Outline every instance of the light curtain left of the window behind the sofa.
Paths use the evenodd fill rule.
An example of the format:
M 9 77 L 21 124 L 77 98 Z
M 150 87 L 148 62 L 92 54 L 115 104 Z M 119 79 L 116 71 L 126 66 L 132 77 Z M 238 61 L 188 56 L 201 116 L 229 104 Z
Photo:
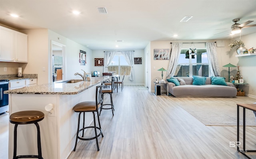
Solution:
M 181 48 L 182 48 L 182 43 L 177 43 L 177 42 L 172 43 L 170 61 L 169 61 L 166 78 L 174 76 L 175 70 L 178 65 Z

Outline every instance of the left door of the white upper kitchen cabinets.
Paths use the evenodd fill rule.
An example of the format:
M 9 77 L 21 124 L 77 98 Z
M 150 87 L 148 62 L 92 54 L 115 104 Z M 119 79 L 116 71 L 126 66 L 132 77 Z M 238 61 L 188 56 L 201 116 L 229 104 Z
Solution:
M 0 61 L 14 62 L 15 31 L 0 26 Z

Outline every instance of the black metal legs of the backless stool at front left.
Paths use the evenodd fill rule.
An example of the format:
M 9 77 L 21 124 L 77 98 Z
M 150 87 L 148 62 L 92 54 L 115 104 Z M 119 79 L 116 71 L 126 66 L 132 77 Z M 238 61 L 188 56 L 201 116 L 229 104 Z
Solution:
M 20 158 L 38 158 L 43 159 L 42 157 L 42 149 L 41 149 L 41 139 L 40 139 L 40 128 L 38 123 L 34 123 L 36 125 L 37 129 L 37 149 L 38 149 L 38 155 L 19 155 L 17 156 L 17 127 L 18 124 L 15 124 L 14 126 L 14 151 L 13 151 L 13 159 L 20 159 Z

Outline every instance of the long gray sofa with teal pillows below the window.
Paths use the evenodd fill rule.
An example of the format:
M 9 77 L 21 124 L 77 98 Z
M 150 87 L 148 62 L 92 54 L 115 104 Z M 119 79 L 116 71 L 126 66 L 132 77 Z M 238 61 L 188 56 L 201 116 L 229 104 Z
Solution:
M 176 78 L 176 77 L 174 77 Z M 174 83 L 168 83 L 168 91 L 171 95 L 177 96 L 211 96 L 211 97 L 235 97 L 236 87 L 226 82 L 225 85 L 212 85 L 210 77 L 206 78 L 205 85 L 192 85 L 192 77 L 179 77 L 184 79 L 186 85 L 175 86 Z

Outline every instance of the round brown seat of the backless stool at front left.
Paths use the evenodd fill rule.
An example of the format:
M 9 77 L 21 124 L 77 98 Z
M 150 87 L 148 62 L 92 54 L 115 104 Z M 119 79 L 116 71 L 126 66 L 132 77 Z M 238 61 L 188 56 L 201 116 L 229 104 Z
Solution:
M 10 115 L 10 123 L 29 124 L 44 119 L 44 113 L 41 111 L 18 111 Z

